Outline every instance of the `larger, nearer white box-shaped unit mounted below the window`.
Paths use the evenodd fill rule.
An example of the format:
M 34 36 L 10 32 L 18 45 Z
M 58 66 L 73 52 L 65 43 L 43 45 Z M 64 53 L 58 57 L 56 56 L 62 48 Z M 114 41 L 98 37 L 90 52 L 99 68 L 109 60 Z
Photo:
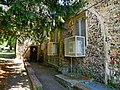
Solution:
M 72 36 L 65 38 L 65 56 L 66 57 L 84 57 L 85 56 L 85 37 Z

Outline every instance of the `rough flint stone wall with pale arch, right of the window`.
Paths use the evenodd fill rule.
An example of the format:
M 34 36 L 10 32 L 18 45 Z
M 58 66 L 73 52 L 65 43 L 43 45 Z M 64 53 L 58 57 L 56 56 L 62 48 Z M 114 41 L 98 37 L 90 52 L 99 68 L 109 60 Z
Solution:
M 118 0 L 88 1 L 86 56 L 73 61 L 99 82 L 105 82 L 106 77 L 120 82 L 119 4 Z

